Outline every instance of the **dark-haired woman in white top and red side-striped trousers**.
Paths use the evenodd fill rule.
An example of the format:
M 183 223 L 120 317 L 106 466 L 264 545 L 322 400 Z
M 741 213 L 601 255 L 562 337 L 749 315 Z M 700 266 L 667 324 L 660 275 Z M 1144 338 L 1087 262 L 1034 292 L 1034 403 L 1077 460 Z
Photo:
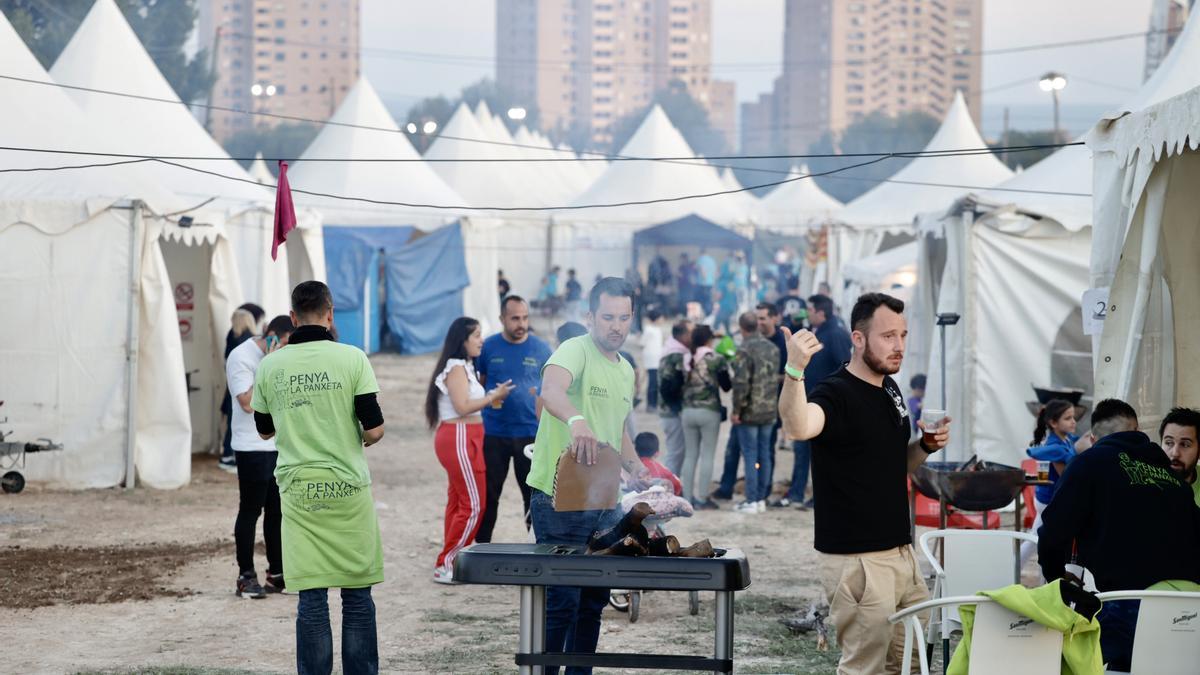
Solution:
M 458 317 L 446 330 L 438 365 L 430 377 L 425 396 L 425 420 L 436 429 L 433 448 L 446 470 L 445 544 L 433 567 L 433 580 L 454 583 L 454 558 L 463 546 L 475 540 L 487 489 L 484 464 L 485 407 L 503 401 L 512 390 L 512 381 L 502 382 L 485 393 L 475 375 L 475 358 L 484 348 L 479 322 Z

